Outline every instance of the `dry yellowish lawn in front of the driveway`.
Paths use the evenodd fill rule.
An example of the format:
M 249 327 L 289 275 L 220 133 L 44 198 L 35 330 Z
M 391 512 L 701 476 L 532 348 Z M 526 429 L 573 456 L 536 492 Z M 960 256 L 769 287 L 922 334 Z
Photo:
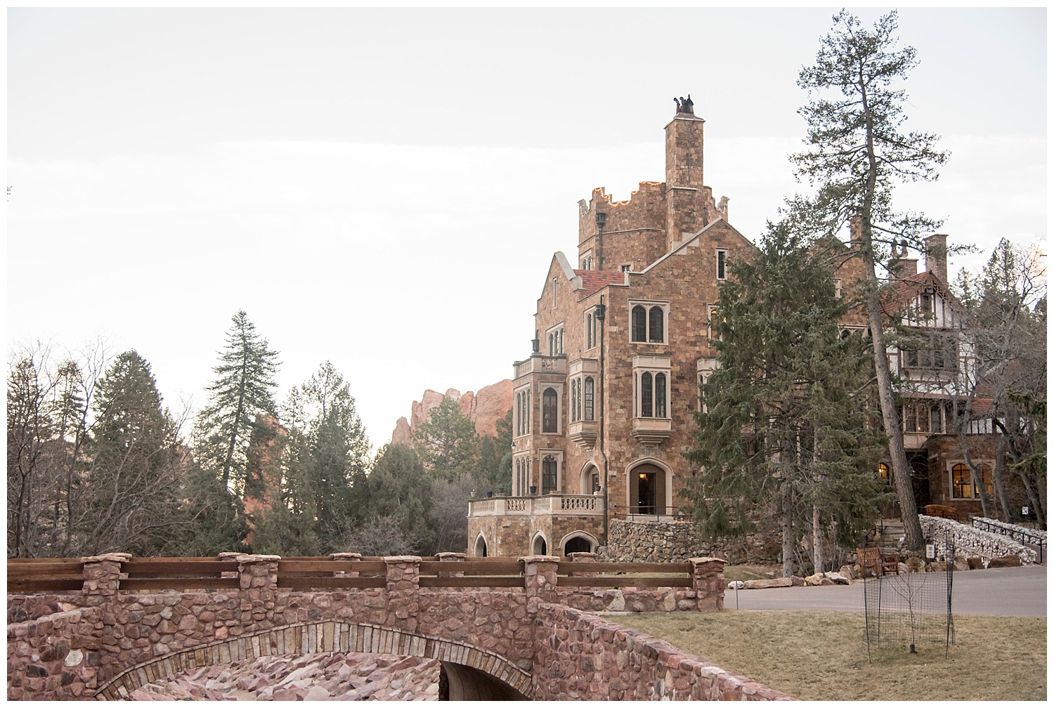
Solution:
M 863 614 L 725 610 L 620 616 L 620 624 L 798 699 L 1043 701 L 1047 618 L 955 617 L 956 644 L 872 650 Z

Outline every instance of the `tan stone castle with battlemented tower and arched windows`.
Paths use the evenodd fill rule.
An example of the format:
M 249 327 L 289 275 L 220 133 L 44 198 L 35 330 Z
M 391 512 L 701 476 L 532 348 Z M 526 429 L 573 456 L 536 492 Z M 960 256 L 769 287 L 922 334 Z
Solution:
M 607 548 L 607 557 L 669 560 L 698 551 L 684 548 L 694 536 L 679 523 L 678 492 L 692 474 L 681 453 L 692 442 L 699 385 L 717 366 L 709 322 L 719 316 L 718 286 L 730 260 L 755 250 L 731 225 L 728 199 L 716 200 L 705 184 L 703 126 L 690 101 L 678 102 L 665 127 L 666 180 L 641 182 L 626 201 L 596 189 L 579 202 L 578 253 L 573 262 L 553 255 L 532 351 L 514 363 L 512 493 L 470 502 L 470 554 L 592 552 L 616 537 L 639 543 L 633 528 L 642 524 L 662 524 L 650 528 L 682 540 L 671 553 Z M 890 354 L 895 371 L 918 384 L 903 412 L 920 512 L 926 504 L 978 507 L 957 438 L 945 434 L 948 379 L 968 347 L 959 341 L 962 308 L 946 286 L 944 240 L 931 237 L 924 272 L 903 254 L 889 303 L 891 315 L 931 315 L 907 324 L 952 333 L 941 335 L 943 355 Z M 861 277 L 859 260 L 847 259 L 836 289 Z M 843 328 L 866 332 L 866 319 L 851 315 Z M 971 432 L 974 458 L 990 469 L 991 426 Z

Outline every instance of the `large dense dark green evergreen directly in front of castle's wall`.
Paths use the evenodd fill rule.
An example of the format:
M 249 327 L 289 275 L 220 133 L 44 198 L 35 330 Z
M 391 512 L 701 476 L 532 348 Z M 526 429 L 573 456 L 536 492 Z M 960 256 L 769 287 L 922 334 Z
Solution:
M 835 296 L 829 255 L 783 223 L 753 263 L 729 263 L 713 323 L 718 368 L 701 387 L 696 447 L 685 453 L 701 467 L 686 492 L 701 536 L 744 535 L 778 509 L 785 575 L 805 526 L 815 525 L 822 568 L 817 542 L 828 527 L 842 544 L 858 539 L 883 491 L 867 342 L 840 336 L 846 301 Z

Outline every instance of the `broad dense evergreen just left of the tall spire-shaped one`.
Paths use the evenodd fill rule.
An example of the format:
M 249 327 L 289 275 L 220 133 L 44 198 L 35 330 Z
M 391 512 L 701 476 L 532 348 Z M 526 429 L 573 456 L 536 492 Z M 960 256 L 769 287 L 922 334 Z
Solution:
M 89 553 L 163 555 L 186 522 L 180 496 L 188 465 L 150 365 L 134 350 L 120 354 L 99 382 L 95 412 L 87 497 L 75 533 Z

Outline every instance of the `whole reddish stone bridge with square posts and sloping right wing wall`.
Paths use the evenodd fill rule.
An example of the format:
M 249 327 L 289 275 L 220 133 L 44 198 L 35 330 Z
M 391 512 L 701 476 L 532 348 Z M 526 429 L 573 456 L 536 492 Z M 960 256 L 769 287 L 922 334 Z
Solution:
M 788 697 L 590 613 L 720 610 L 717 558 L 692 559 L 683 588 L 582 589 L 603 585 L 588 572 L 562 587 L 553 556 L 521 558 L 518 587 L 466 587 L 480 578 L 423 578 L 419 557 L 393 556 L 376 587 L 294 590 L 277 556 L 237 555 L 226 588 L 136 592 L 129 557 L 83 558 L 78 595 L 8 595 L 9 617 L 35 617 L 7 627 L 8 700 L 116 700 L 197 667 L 347 651 L 438 660 L 450 700 Z

